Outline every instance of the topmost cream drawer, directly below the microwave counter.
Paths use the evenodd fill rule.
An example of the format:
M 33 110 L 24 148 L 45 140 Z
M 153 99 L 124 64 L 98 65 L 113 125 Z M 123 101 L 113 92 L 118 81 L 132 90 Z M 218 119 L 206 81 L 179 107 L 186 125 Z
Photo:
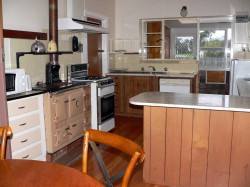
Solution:
M 38 98 L 29 97 L 8 102 L 9 117 L 17 116 L 38 109 Z

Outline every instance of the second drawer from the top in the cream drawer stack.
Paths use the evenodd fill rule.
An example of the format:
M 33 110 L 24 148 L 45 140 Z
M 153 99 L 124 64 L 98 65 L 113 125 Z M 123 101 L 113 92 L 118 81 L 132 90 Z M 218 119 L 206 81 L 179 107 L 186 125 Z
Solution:
M 18 132 L 24 131 L 26 129 L 29 129 L 31 127 L 35 127 L 39 125 L 39 113 L 35 113 L 32 115 L 20 117 L 15 120 L 9 121 L 10 126 L 12 128 L 13 134 L 16 134 Z

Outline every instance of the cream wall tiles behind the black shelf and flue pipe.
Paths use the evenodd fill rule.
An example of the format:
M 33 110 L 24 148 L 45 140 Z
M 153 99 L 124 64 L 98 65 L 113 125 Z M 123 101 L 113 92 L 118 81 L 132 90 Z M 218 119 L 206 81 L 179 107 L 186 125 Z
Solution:
M 81 45 L 86 41 L 86 35 L 84 34 L 74 34 L 78 37 L 79 43 Z M 59 35 L 59 51 L 72 51 L 72 34 L 60 34 Z M 16 52 L 30 52 L 31 45 L 34 40 L 26 39 L 4 39 L 4 49 L 5 49 L 5 67 L 6 68 L 16 68 Z M 46 49 L 48 41 L 41 41 Z M 83 44 L 83 48 L 86 49 L 86 43 Z M 85 51 L 85 52 L 82 52 Z M 60 79 L 67 79 L 67 65 L 68 64 L 77 64 L 86 62 L 84 59 L 86 56 L 86 50 L 80 52 L 75 52 L 73 54 L 63 54 L 59 55 L 59 65 L 60 65 Z M 49 62 L 49 55 L 24 55 L 19 58 L 20 68 L 24 68 L 25 72 L 30 75 L 32 80 L 32 85 L 34 86 L 37 82 L 45 82 L 45 67 Z

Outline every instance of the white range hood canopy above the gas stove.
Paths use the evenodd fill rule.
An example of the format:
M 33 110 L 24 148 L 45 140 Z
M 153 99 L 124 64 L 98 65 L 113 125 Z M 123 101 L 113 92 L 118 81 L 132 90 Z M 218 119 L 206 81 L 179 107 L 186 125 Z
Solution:
M 85 33 L 108 34 L 108 29 L 100 24 L 91 21 L 79 20 L 74 18 L 59 18 L 58 30 L 80 31 Z

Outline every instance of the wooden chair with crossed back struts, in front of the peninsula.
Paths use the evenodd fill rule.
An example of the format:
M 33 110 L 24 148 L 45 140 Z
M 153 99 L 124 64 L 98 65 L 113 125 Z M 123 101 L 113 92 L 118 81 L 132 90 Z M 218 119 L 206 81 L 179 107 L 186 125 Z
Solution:
M 98 146 L 96 146 L 95 142 L 100 145 L 104 144 L 113 147 L 128 155 L 129 158 L 131 157 L 127 167 L 122 171 L 120 171 L 119 173 L 110 177 L 107 167 L 105 166 L 101 153 L 98 149 Z M 113 187 L 112 183 L 122 177 L 123 177 L 122 187 L 128 186 L 128 182 L 134 167 L 137 164 L 142 163 L 145 158 L 144 150 L 142 149 L 141 146 L 137 145 L 135 142 L 113 133 L 88 129 L 84 131 L 84 140 L 83 140 L 82 171 L 84 173 L 87 173 L 87 160 L 88 160 L 88 148 L 89 148 L 88 145 L 91 146 L 97 158 L 97 161 L 100 165 L 100 168 L 103 172 L 105 178 L 105 182 L 103 183 L 108 187 Z

